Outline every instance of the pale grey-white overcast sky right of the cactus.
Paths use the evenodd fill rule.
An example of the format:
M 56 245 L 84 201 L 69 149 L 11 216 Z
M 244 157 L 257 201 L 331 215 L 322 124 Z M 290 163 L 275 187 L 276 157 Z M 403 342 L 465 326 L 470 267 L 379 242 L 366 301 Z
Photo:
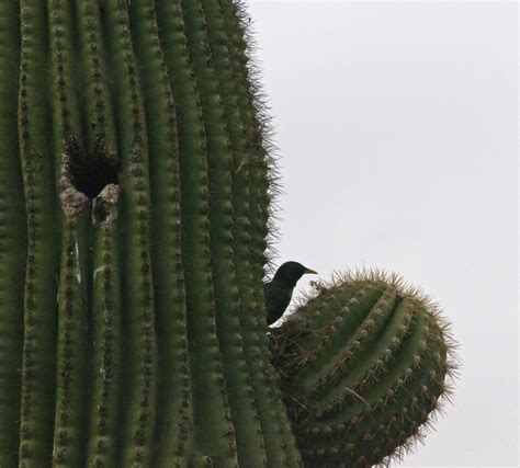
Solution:
M 280 147 L 280 262 L 384 267 L 431 294 L 464 367 L 404 465 L 518 466 L 517 5 L 248 11 Z

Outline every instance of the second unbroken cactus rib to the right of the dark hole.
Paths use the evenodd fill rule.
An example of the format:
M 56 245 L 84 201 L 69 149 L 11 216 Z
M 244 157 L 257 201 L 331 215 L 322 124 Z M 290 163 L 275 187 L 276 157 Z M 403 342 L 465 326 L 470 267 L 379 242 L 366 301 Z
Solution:
M 155 465 L 185 465 L 191 407 L 186 306 L 181 252 L 177 116 L 152 1 L 131 4 L 150 153 L 152 267 L 158 333 L 158 452 Z

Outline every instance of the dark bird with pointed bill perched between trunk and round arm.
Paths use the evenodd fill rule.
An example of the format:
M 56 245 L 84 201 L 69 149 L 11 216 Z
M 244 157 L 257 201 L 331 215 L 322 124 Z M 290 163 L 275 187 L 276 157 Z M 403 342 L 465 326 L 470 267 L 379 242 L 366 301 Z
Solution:
M 298 262 L 285 262 L 269 283 L 263 284 L 268 326 L 274 323 L 291 303 L 297 281 L 305 274 L 317 274 Z

